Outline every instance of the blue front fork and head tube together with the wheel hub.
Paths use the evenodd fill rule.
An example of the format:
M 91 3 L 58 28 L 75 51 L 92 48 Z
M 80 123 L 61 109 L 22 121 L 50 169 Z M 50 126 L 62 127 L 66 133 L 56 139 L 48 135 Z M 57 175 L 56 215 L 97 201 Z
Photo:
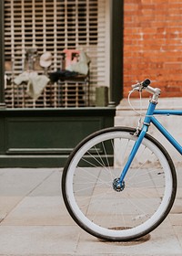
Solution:
M 140 146 L 140 144 L 142 143 L 146 133 L 147 133 L 147 130 L 148 130 L 148 126 L 150 125 L 150 121 L 151 121 L 151 116 L 153 115 L 153 112 L 155 111 L 155 108 L 156 108 L 156 105 L 157 103 L 156 102 L 150 102 L 149 106 L 148 106 L 148 109 L 147 109 L 147 114 L 146 114 L 146 117 L 145 117 L 145 120 L 144 120 L 144 124 L 143 124 L 143 127 L 141 129 L 141 131 L 138 133 L 138 137 L 136 139 L 136 143 L 134 144 L 132 150 L 131 150 L 131 153 L 130 155 L 128 156 L 128 159 L 127 159 L 127 162 L 126 162 L 126 165 L 121 173 L 121 176 L 116 178 L 113 182 L 113 187 L 116 191 L 122 191 L 124 188 L 125 188 L 125 176 L 126 176 L 126 173 L 130 167 L 130 165 L 132 164 L 132 161 L 137 153 L 137 150 Z M 135 136 L 135 134 L 134 134 Z

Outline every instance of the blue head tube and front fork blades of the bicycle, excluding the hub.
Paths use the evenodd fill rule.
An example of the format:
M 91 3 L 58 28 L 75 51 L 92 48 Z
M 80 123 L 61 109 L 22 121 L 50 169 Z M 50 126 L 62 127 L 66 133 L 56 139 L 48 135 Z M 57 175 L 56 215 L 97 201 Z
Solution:
M 149 126 L 150 121 L 151 121 L 151 116 L 153 115 L 153 112 L 155 111 L 155 108 L 156 108 L 156 103 L 150 102 L 150 104 L 148 106 L 148 109 L 147 109 L 147 115 L 145 117 L 142 130 L 139 133 L 138 138 L 136 139 L 136 143 L 134 144 L 134 146 L 131 150 L 131 153 L 130 153 L 128 159 L 127 159 L 126 165 L 125 165 L 125 167 L 124 167 L 124 169 L 121 173 L 121 176 L 119 178 L 119 183 L 120 184 L 123 184 L 123 181 L 124 181 L 124 178 L 126 176 L 127 170 L 129 169 L 129 167 L 130 167 L 130 165 L 131 165 L 131 163 L 132 163 L 132 161 L 133 161 L 133 159 L 134 159 L 134 157 L 137 153 L 137 150 L 138 150 L 140 144 L 142 143 L 143 138 L 145 137 L 145 135 L 147 133 L 148 126 Z

